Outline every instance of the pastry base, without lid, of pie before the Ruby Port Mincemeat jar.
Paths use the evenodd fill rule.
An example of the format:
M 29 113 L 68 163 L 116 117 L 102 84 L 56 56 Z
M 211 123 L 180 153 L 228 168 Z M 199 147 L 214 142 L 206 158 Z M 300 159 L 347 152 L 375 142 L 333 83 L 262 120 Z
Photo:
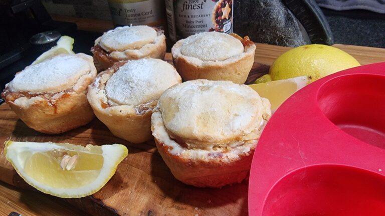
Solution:
M 254 63 L 256 45 L 248 44 L 244 52 L 222 61 L 202 61 L 196 57 L 185 56 L 180 48 L 183 39 L 177 41 L 171 49 L 172 60 L 176 70 L 186 80 L 209 79 L 230 80 L 245 83 Z

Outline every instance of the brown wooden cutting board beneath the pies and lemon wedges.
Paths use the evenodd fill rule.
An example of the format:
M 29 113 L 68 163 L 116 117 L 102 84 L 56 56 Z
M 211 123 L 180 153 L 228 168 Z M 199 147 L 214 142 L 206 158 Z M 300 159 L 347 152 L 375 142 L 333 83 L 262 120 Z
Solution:
M 385 49 L 334 45 L 361 64 L 385 61 Z M 268 72 L 274 59 L 288 47 L 258 44 L 249 82 Z M 171 61 L 168 53 L 166 60 Z M 92 215 L 247 215 L 248 181 L 221 189 L 196 188 L 176 180 L 156 150 L 154 142 L 132 144 L 113 136 L 98 119 L 58 135 L 39 133 L 27 127 L 7 104 L 0 105 L 0 143 L 14 141 L 53 141 L 76 144 L 122 143 L 129 154 L 115 175 L 98 192 L 84 198 L 64 199 Z M 0 180 L 21 188 L 29 186 L 5 159 L 0 144 Z M 0 191 L 2 187 L 0 187 Z M 40 192 L 39 192 L 40 193 Z M 0 193 L 1 194 L 1 193 Z M 1 198 L 1 197 L 0 197 Z M 10 210 L 11 211 L 11 210 Z M 9 211 L 9 212 L 10 212 Z M 63 215 L 66 213 L 63 211 Z

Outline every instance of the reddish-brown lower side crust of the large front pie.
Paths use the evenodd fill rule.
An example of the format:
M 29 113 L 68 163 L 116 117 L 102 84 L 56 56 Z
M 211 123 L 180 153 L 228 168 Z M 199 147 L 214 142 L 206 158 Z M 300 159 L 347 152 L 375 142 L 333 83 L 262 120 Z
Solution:
M 256 140 L 257 142 L 257 140 Z M 183 158 L 171 154 L 169 146 L 155 137 L 156 147 L 174 177 L 197 187 L 222 187 L 240 183 L 249 175 L 254 148 L 230 160 Z

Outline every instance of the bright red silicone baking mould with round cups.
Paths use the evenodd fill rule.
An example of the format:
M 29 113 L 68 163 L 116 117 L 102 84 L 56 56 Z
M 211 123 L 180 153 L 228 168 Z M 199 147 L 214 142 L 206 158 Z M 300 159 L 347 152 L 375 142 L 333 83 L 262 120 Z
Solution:
M 385 215 L 385 62 L 319 79 L 267 123 L 249 215 Z

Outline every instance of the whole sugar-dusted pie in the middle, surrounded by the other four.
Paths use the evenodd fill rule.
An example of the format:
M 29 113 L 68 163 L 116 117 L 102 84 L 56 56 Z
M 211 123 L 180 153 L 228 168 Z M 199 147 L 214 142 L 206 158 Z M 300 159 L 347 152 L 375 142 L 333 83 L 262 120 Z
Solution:
M 160 94 L 180 82 L 175 68 L 165 61 L 121 61 L 97 75 L 87 97 L 95 115 L 115 136 L 140 143 L 152 138 L 151 110 Z

